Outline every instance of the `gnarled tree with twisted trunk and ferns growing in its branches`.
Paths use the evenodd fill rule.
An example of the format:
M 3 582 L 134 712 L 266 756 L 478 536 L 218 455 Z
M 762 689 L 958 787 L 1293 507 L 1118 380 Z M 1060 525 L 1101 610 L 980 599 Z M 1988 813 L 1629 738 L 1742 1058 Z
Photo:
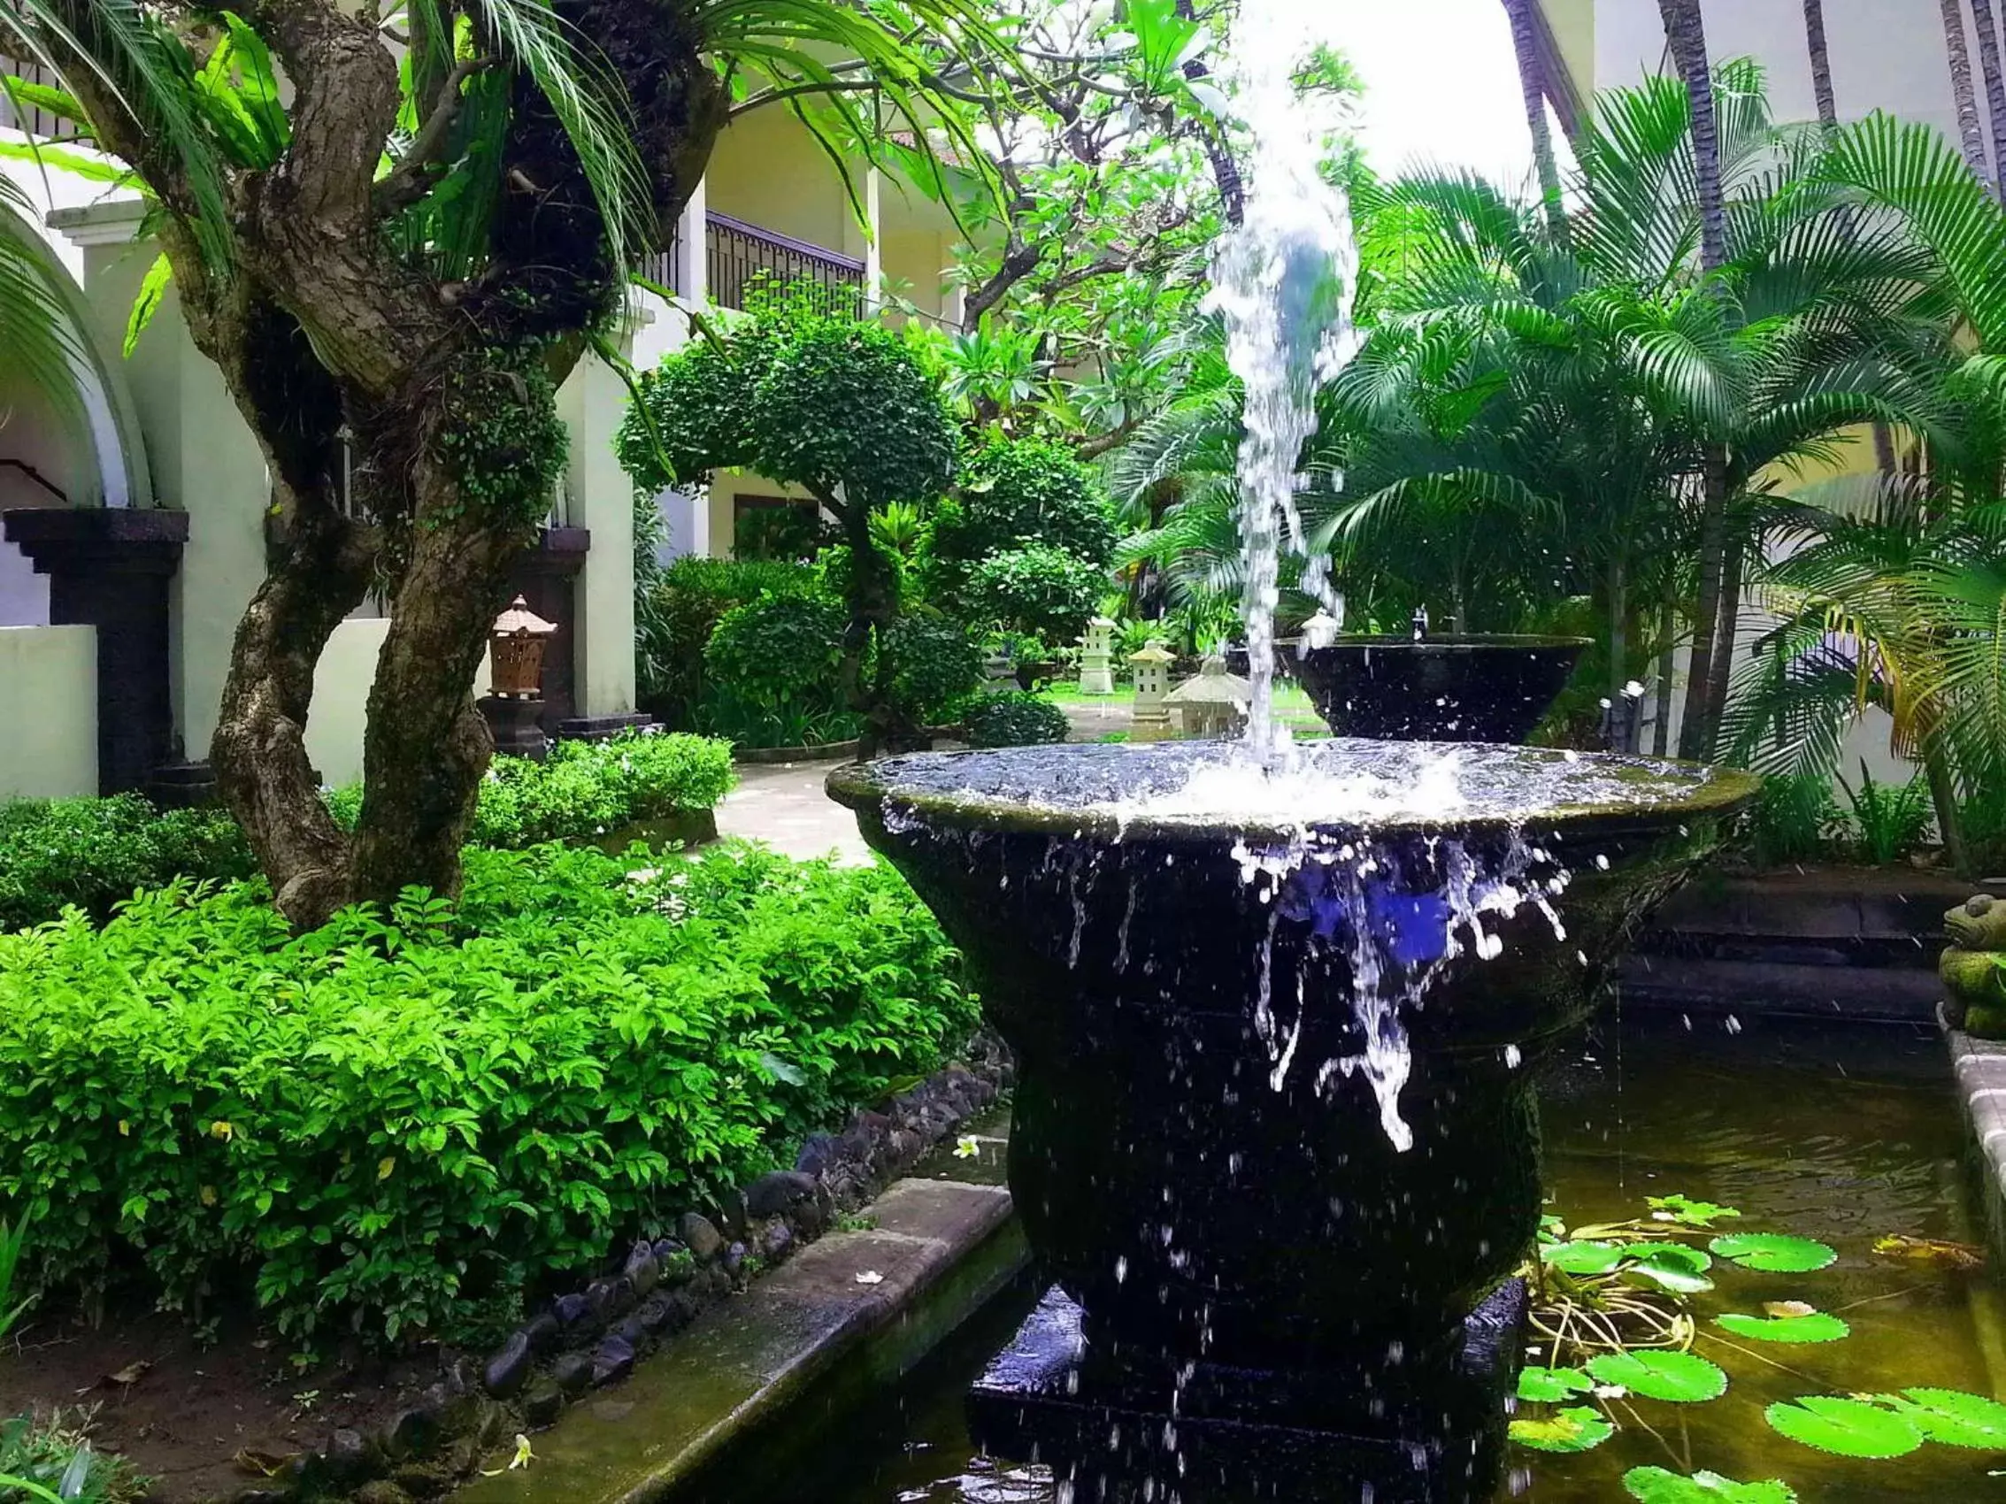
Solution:
M 363 10 L 379 24 L 353 0 L 0 6 L 4 50 L 60 76 L 56 102 L 146 193 L 195 345 L 265 449 L 275 541 L 211 760 L 299 924 L 457 890 L 493 746 L 471 684 L 564 465 L 556 387 L 726 120 L 782 104 L 832 148 L 889 154 L 897 126 L 925 158 L 959 130 L 937 70 L 1015 66 L 979 0 Z M 959 154 L 981 160 L 965 130 Z M 321 650 L 369 592 L 389 628 L 349 834 L 305 726 Z

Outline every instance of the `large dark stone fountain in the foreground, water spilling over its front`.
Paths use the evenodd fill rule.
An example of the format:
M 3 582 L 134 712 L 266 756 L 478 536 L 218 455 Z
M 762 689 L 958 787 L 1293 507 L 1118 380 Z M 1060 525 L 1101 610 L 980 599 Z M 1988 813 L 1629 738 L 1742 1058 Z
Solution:
M 828 780 L 1017 1055 L 1011 1195 L 1055 1287 L 977 1432 L 1107 1498 L 1486 1500 L 1535 1067 L 1755 780 L 1412 742 L 1236 758 Z

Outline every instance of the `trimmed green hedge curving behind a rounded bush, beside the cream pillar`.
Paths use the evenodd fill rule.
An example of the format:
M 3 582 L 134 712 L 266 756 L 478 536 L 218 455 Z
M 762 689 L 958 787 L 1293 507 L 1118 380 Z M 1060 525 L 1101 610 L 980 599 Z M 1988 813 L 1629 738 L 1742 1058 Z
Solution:
M 634 674 L 642 710 L 674 730 L 700 730 L 704 648 L 734 606 L 760 596 L 808 596 L 818 576 L 802 563 L 686 555 L 660 570 L 634 602 Z

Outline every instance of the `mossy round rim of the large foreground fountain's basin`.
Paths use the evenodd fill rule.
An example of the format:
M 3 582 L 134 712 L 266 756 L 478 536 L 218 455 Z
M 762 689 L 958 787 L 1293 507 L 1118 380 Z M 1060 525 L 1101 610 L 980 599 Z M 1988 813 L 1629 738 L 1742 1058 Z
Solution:
M 1053 748 L 1037 748 L 1051 752 Z M 1545 748 L 1504 748 L 1511 752 L 1543 752 Z M 985 756 L 981 752 L 929 752 L 929 760 Z M 1553 752 L 1553 756 L 1563 756 Z M 1585 752 L 1583 760 L 1605 754 Z M 1683 818 L 1727 816 L 1743 808 L 1761 788 L 1761 778 L 1739 768 L 1715 768 L 1697 762 L 1651 758 L 1649 764 L 1667 772 L 1699 774 L 1701 782 L 1673 798 L 1651 802 L 1575 802 L 1515 810 L 1511 814 L 1466 814 L 1448 818 L 1390 816 L 1358 820 L 1272 820 L 1272 818 L 1202 818 L 1190 814 L 1127 814 L 1105 804 L 1057 806 L 1029 804 L 1017 798 L 971 792 L 935 792 L 899 788 L 883 772 L 895 770 L 901 758 L 879 762 L 847 762 L 832 770 L 824 788 L 832 800 L 861 814 L 883 816 L 887 808 L 915 816 L 919 822 L 957 830 L 991 830 L 1011 834 L 1047 834 L 1097 842 L 1157 842 L 1180 846 L 1216 846 L 1228 838 L 1294 842 L 1304 836 L 1348 838 L 1354 834 L 1420 834 L 1468 836 L 1509 832 L 1615 834 L 1623 830 L 1663 830 Z M 1631 764 L 1635 766 L 1635 764 Z

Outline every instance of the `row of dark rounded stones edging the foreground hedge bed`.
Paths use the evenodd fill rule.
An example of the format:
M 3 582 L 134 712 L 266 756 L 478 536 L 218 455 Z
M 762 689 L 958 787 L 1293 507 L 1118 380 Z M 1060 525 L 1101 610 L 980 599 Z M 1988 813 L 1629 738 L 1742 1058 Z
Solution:
M 636 1239 L 602 1277 L 524 1322 L 491 1354 L 461 1354 L 419 1400 L 363 1434 L 333 1432 L 233 1504 L 353 1498 L 407 1504 L 473 1478 L 483 1454 L 538 1432 L 576 1400 L 626 1380 L 702 1311 L 746 1289 L 764 1269 L 873 1201 L 1013 1081 L 1007 1053 L 979 1037 L 963 1063 L 851 1115 L 843 1133 L 814 1133 L 794 1159 L 686 1211 L 674 1235 Z

